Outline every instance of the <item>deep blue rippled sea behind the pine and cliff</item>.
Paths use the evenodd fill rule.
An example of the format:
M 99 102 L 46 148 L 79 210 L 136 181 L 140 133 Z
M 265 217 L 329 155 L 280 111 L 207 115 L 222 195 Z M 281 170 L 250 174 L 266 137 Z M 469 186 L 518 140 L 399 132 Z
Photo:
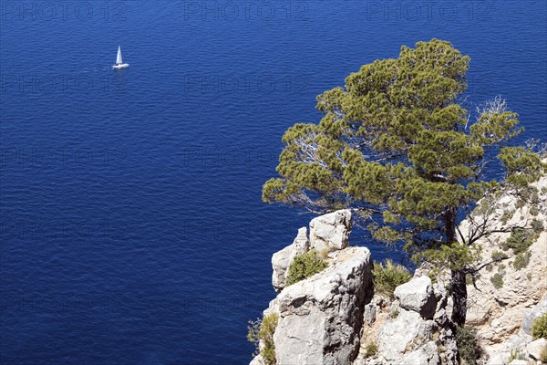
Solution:
M 0 21 L 2 364 L 248 363 L 271 255 L 313 217 L 261 201 L 284 130 L 401 45 L 449 40 L 470 110 L 501 95 L 547 141 L 544 1 L 2 0 Z

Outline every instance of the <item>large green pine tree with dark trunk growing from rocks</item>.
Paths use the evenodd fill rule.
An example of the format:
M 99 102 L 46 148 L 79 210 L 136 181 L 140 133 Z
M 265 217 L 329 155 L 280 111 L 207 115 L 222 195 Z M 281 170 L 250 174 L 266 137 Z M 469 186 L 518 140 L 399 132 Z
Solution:
M 459 235 L 459 219 L 501 184 L 524 189 L 547 171 L 530 148 L 509 145 L 522 129 L 504 100 L 485 103 L 470 121 L 462 106 L 469 65 L 449 42 L 432 39 L 363 66 L 345 88 L 317 97 L 318 124 L 284 133 L 280 177 L 263 186 L 267 203 L 315 214 L 350 208 L 377 240 L 448 263 L 459 325 L 477 238 Z M 496 154 L 507 169 L 501 183 L 485 180 Z

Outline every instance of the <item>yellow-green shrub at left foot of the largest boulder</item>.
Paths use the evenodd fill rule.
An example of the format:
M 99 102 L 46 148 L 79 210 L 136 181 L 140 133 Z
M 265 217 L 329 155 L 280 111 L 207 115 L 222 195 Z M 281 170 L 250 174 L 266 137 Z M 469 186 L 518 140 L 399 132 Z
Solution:
M 272 313 L 262 320 L 250 321 L 251 326 L 247 327 L 249 332 L 247 333 L 247 340 L 253 342 L 256 348 L 253 356 L 259 353 L 263 357 L 264 365 L 275 365 L 277 360 L 275 359 L 275 345 L 274 345 L 274 332 L 277 327 L 279 318 L 275 313 Z M 263 341 L 263 349 L 260 350 L 260 341 Z

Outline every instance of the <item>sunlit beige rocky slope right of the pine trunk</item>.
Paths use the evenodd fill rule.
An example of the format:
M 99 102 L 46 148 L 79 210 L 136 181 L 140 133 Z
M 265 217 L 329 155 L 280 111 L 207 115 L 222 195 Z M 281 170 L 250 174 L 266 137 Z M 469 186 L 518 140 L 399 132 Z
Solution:
M 483 262 L 500 253 L 508 257 L 481 270 L 476 285 L 468 285 L 467 323 L 478 329 L 489 365 L 508 363 L 511 353 L 530 363 L 539 360 L 537 351 L 531 349 L 542 341 L 536 341 L 532 347 L 530 344 L 533 320 L 547 313 L 547 177 L 532 187 L 537 189 L 537 195 L 527 201 L 505 193 L 489 203 L 494 229 L 542 224 L 528 249 L 520 255 L 515 255 L 514 249 L 504 251 L 511 233 L 495 233 L 478 242 Z M 469 220 L 461 225 L 465 232 Z

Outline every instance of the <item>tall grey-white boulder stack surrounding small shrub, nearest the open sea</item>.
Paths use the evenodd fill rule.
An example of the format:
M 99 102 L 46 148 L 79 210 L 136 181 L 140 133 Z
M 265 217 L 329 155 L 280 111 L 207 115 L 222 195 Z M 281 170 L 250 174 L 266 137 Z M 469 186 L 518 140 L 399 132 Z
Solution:
M 315 218 L 301 228 L 294 243 L 274 254 L 272 282 L 279 295 L 264 311 L 276 314 L 274 333 L 277 364 L 347 364 L 359 351 L 363 310 L 372 294 L 370 252 L 348 247 L 351 214 L 339 211 Z M 295 255 L 314 248 L 328 267 L 285 287 Z M 260 364 L 258 356 L 252 362 Z

